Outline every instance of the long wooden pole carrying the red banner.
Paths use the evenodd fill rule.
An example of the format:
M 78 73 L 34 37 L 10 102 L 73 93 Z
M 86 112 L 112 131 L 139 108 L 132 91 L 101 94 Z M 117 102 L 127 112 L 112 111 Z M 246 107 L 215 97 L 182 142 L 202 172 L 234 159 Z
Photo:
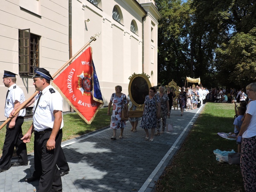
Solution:
M 99 37 L 101 32 L 98 32 L 97 34 L 93 35 L 93 37 L 91 37 L 91 40 L 88 41 L 74 56 L 72 56 L 56 73 L 54 73 L 54 75 L 52 75 L 52 78 L 55 78 L 55 76 L 58 75 L 59 72 L 61 72 L 77 55 L 79 55 L 83 49 L 85 49 L 92 41 L 96 41 L 96 39 Z M 28 100 L 25 100 L 23 103 L 20 104 L 19 108 L 16 110 L 16 112 L 14 113 L 13 117 L 16 116 L 16 114 L 18 112 L 20 112 L 20 110 L 26 106 L 29 102 L 31 102 L 32 99 L 34 99 L 34 97 L 38 94 L 38 91 L 36 91 L 31 97 L 29 97 Z M 12 118 L 8 118 L 6 121 L 4 121 L 3 124 L 1 124 L 0 126 L 0 130 L 11 120 Z

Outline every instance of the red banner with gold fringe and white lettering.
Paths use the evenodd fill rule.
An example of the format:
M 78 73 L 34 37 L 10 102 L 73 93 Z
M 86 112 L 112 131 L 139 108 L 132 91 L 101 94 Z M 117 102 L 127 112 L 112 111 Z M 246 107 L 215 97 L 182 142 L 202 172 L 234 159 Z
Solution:
M 91 124 L 104 104 L 91 47 L 65 68 L 52 81 L 52 85 L 88 124 Z

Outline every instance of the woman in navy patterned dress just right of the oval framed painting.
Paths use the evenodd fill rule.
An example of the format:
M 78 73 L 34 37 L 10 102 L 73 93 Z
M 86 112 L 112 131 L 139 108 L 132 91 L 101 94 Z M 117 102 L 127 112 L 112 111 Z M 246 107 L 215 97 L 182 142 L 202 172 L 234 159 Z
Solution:
M 145 97 L 143 116 L 140 127 L 146 132 L 146 140 L 149 140 L 149 129 L 151 128 L 151 136 L 149 141 L 154 140 L 154 133 L 157 127 L 157 118 L 160 118 L 161 105 L 160 99 L 155 95 L 156 89 L 149 88 L 149 95 Z M 158 106 L 158 116 L 157 107 Z

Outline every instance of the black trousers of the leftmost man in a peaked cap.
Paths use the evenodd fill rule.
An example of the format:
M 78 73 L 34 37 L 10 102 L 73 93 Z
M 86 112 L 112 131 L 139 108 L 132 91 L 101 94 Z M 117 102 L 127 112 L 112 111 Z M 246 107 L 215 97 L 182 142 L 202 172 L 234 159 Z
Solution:
M 8 128 L 10 121 L 6 124 L 6 135 L 3 146 L 3 153 L 0 160 L 0 168 L 8 169 L 13 157 L 14 147 L 20 164 L 28 164 L 27 147 L 21 138 L 23 137 L 21 126 L 24 122 L 24 117 L 17 117 L 15 126 Z

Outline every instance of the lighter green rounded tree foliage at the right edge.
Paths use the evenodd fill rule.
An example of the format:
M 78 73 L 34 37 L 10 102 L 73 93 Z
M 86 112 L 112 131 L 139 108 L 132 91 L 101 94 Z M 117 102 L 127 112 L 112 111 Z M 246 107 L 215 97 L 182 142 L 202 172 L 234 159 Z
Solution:
M 256 27 L 247 34 L 237 33 L 216 49 L 216 67 L 222 83 L 232 82 L 241 88 L 256 81 Z

